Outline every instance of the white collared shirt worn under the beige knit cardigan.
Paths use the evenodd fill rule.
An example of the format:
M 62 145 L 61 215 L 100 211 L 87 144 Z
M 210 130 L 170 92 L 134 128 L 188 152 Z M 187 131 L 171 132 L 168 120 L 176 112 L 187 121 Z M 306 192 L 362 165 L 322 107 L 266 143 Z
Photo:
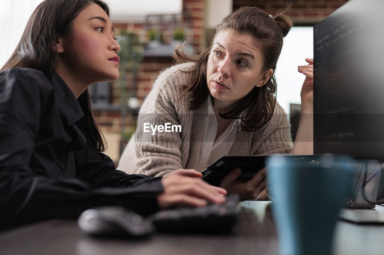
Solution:
M 208 96 L 208 107 L 205 110 L 207 117 L 204 120 L 204 131 L 200 147 L 198 171 L 204 170 L 219 157 L 228 155 L 235 143 L 237 130 L 240 130 L 240 119 L 234 119 L 225 131 L 215 141 L 217 133 L 217 120 L 212 107 L 210 95 Z

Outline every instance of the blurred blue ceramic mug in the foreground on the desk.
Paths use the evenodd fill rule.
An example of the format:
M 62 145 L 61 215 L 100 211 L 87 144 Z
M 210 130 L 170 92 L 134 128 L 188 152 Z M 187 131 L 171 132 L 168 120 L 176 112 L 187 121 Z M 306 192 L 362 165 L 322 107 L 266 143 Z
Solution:
M 353 160 L 324 154 L 319 162 L 304 164 L 276 155 L 266 162 L 280 254 L 332 254 L 336 220 L 351 194 L 353 171 L 348 163 Z

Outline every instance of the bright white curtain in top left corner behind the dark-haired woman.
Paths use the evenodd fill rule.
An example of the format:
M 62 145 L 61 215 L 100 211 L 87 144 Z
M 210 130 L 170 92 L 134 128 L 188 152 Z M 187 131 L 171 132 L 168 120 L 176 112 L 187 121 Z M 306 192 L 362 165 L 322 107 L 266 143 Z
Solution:
M 26 23 L 43 0 L 0 0 L 0 67 L 12 55 Z

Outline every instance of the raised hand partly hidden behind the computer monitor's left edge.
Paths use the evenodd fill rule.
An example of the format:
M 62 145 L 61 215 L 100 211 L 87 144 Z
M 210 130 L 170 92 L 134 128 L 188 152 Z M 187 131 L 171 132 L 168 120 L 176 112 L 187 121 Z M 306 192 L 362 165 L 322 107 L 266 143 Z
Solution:
M 313 59 L 305 59 L 309 65 L 299 65 L 298 72 L 305 75 L 303 87 L 301 87 L 301 111 L 313 113 Z

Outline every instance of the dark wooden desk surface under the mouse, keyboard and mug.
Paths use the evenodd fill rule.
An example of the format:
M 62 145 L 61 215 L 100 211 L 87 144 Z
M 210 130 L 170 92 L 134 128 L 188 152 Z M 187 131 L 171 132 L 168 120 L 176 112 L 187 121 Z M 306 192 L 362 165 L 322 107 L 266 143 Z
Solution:
M 384 226 L 338 222 L 335 255 L 384 254 Z M 278 254 L 270 202 L 244 201 L 232 235 L 155 234 L 146 240 L 94 239 L 73 220 L 50 220 L 0 234 L 4 255 Z

